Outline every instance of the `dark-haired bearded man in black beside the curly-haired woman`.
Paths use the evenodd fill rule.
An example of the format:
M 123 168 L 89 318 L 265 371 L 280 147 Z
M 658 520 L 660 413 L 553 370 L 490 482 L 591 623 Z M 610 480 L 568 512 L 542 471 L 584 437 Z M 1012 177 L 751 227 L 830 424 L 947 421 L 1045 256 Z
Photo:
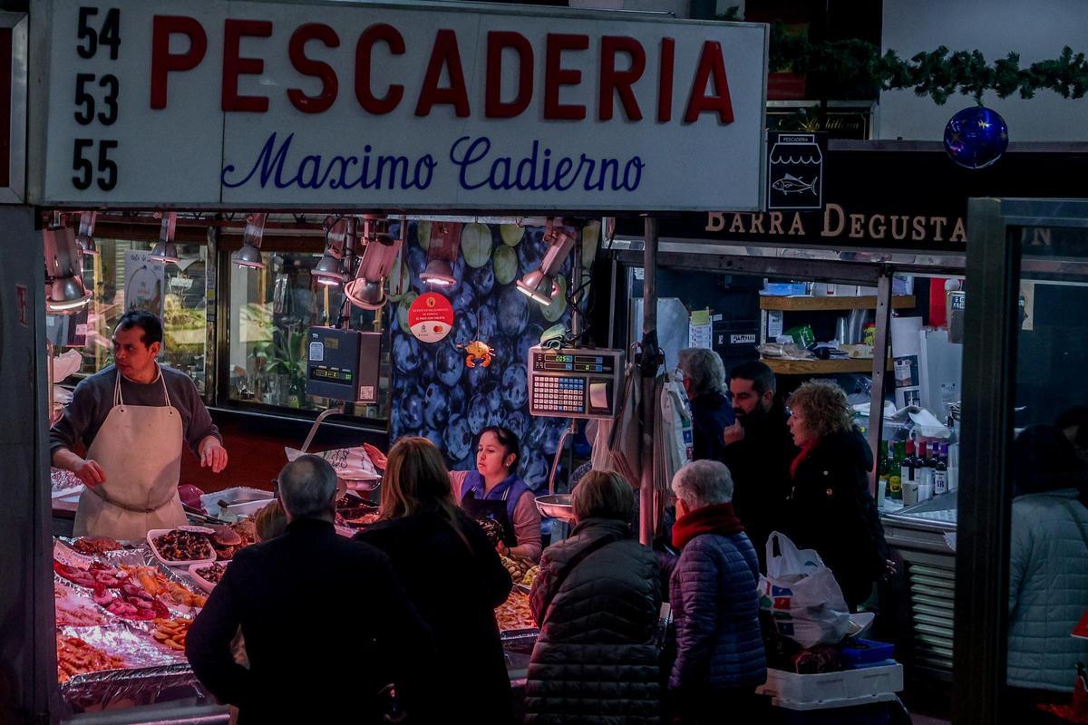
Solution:
M 724 434 L 724 462 L 735 485 L 733 508 L 766 570 L 767 537 L 790 492 L 790 462 L 798 454 L 786 425 L 786 405 L 775 397 L 775 374 L 753 360 L 729 377 L 737 422 Z

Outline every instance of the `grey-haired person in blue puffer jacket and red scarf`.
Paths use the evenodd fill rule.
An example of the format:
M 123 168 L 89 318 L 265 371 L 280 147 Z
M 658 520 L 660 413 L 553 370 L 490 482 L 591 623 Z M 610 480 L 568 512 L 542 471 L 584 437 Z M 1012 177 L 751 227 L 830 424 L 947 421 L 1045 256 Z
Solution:
M 759 634 L 755 549 L 733 513 L 733 480 L 718 461 L 695 461 L 672 478 L 680 560 L 669 580 L 676 661 L 669 676 L 680 722 L 757 722 L 767 679 Z

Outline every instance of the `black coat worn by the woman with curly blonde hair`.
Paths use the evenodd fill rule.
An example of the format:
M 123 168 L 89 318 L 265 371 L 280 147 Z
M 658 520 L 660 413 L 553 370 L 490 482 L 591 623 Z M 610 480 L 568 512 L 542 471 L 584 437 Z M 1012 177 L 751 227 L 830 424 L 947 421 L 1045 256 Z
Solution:
M 851 610 L 868 599 L 885 572 L 888 545 L 869 493 L 873 452 L 857 428 L 823 438 L 798 466 L 786 534 L 815 549 L 834 574 Z

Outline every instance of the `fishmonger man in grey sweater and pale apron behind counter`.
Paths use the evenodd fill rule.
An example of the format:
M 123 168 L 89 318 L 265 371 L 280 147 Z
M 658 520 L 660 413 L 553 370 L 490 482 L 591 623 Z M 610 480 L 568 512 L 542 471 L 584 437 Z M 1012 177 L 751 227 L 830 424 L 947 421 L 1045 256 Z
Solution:
M 113 364 L 85 378 L 49 432 L 53 465 L 87 485 L 76 536 L 141 539 L 186 523 L 177 495 L 182 443 L 215 473 L 226 466 L 219 428 L 197 386 L 160 365 L 162 322 L 143 310 L 121 316 Z M 86 447 L 86 458 L 75 452 Z

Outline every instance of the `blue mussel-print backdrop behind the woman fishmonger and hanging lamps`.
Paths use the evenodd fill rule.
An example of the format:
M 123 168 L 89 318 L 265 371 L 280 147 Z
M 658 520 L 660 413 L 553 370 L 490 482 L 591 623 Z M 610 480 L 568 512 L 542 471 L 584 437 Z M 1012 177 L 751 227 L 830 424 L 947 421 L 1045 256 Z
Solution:
M 579 228 L 582 267 L 596 253 L 599 224 Z M 391 229 L 394 234 L 399 230 Z M 569 329 L 566 300 L 573 255 L 561 267 L 562 295 L 543 307 L 518 291 L 516 282 L 537 268 L 546 251 L 544 227 L 465 224 L 453 264 L 456 284 L 420 279 L 426 266 L 430 223 L 409 222 L 407 243 L 390 282 L 393 401 L 392 440 L 423 436 L 445 453 L 450 470 L 475 467 L 475 440 L 484 427 L 502 425 L 521 439 L 518 473 L 533 488 L 547 485 L 566 418 L 529 415 L 529 348 L 555 324 Z M 408 309 L 423 292 L 437 292 L 454 308 L 453 332 L 438 342 L 421 342 L 408 330 Z M 461 347 L 474 340 L 494 350 L 487 366 L 469 367 Z

